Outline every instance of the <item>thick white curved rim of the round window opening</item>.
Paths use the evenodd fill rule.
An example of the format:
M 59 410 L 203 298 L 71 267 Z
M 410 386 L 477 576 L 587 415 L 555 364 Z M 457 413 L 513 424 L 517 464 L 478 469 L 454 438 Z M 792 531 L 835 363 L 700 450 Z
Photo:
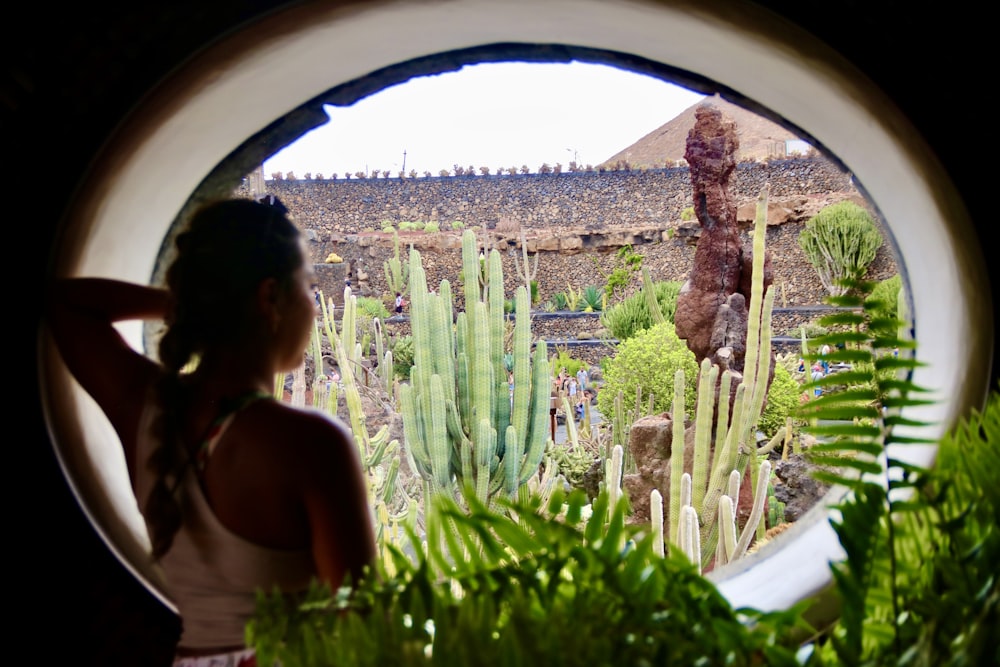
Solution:
M 350 15 L 306 5 L 250 26 L 190 63 L 130 119 L 110 157 L 89 175 L 95 187 L 82 189 L 88 194 L 67 223 L 58 265 L 67 275 L 156 280 L 176 221 L 205 199 L 231 194 L 272 154 L 324 123 L 324 104 L 351 104 L 414 77 L 476 63 L 612 65 L 721 94 L 807 139 L 852 174 L 885 223 L 910 295 L 916 354 L 926 364 L 913 380 L 939 399 L 916 415 L 935 424 L 927 437 L 981 403 L 987 368 L 971 360 L 989 355 L 992 324 L 984 319 L 990 309 L 978 303 L 988 293 L 979 250 L 962 243 L 968 223 L 961 206 L 905 121 L 808 36 L 789 34 L 786 26 L 779 34 L 764 17 L 748 28 L 711 8 L 642 3 L 581 2 L 566 17 L 558 7 L 469 0 L 452 3 L 462 17 L 457 23 L 443 21 L 440 7 L 368 5 Z M 357 35 L 391 46 L 358 46 Z M 708 52 L 705 44 L 718 48 Z M 136 220 L 145 222 L 143 229 Z M 907 266 L 922 270 L 907 275 Z M 380 264 L 370 268 L 381 271 Z M 141 329 L 125 333 L 143 345 Z M 145 337 L 149 349 L 151 336 Z M 58 364 L 45 372 L 54 442 L 81 504 L 123 562 L 162 593 L 158 574 L 145 564 L 144 531 L 113 435 L 79 391 L 53 389 L 65 377 Z M 930 462 L 933 449 L 908 456 Z M 776 609 L 816 593 L 829 581 L 828 561 L 840 553 L 825 518 L 823 507 L 815 507 L 773 548 L 712 576 L 735 606 Z M 788 586 L 767 584 L 779 574 Z

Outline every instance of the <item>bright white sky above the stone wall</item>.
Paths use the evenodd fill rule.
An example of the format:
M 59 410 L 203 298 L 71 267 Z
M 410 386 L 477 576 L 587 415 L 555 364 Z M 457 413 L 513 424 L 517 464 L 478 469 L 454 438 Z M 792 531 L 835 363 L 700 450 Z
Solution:
M 597 165 L 703 98 L 659 79 L 584 63 L 489 63 L 412 79 L 351 107 L 264 162 L 264 174 L 378 169 L 395 176 L 473 165 Z

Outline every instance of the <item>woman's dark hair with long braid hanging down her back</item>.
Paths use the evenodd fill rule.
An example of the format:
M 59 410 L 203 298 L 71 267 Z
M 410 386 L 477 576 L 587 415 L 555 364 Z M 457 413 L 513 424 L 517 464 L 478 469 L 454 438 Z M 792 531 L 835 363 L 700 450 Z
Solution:
M 165 370 L 156 387 L 161 411 L 152 425 L 159 445 L 147 462 L 156 481 L 144 514 L 156 559 L 170 549 L 180 530 L 176 491 L 191 461 L 180 440 L 178 417 L 188 401 L 181 371 L 196 356 L 241 332 L 253 335 L 260 326 L 252 319 L 260 283 L 276 278 L 286 284 L 301 265 L 299 232 L 286 213 L 277 199 L 215 202 L 200 208 L 177 237 L 177 256 L 166 276 L 171 307 L 159 346 Z

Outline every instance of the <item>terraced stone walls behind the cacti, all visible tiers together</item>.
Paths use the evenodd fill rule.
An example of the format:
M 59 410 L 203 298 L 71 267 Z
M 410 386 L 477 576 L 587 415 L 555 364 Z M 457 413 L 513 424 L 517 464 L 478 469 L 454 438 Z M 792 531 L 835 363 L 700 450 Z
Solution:
M 738 218 L 749 238 L 754 202 L 761 187 L 770 185 L 767 246 L 772 254 L 777 289 L 774 333 L 815 317 L 802 307 L 822 303 L 824 290 L 815 270 L 798 245 L 804 222 L 822 206 L 851 199 L 864 204 L 848 174 L 822 158 L 799 158 L 738 166 L 731 183 L 741 202 Z M 342 301 L 344 279 L 352 277 L 355 292 L 386 300 L 391 297 L 384 262 L 392 256 L 392 235 L 383 223 L 437 221 L 447 228 L 459 220 L 477 228 L 480 239 L 501 252 L 507 292 L 519 284 L 516 263 L 521 261 L 520 235 L 528 250 L 537 252 L 541 301 L 568 287 L 602 288 L 617 264 L 617 251 L 631 245 L 643 256 L 654 280 L 685 280 L 694 259 L 700 229 L 682 222 L 681 211 L 691 205 L 686 168 L 632 172 L 576 172 L 562 174 L 380 178 L 351 180 L 268 181 L 267 192 L 288 206 L 306 231 L 315 261 L 331 252 L 342 264 L 317 264 L 324 294 Z M 428 284 L 449 280 L 457 293 L 461 269 L 461 231 L 400 232 L 406 258 L 412 244 L 420 251 Z M 886 243 L 869 270 L 871 279 L 896 272 L 892 244 Z M 799 309 L 796 311 L 796 309 Z M 405 322 L 395 328 L 405 329 Z M 589 318 L 539 317 L 533 323 L 537 337 L 546 340 L 600 336 L 596 315 Z M 600 346 L 589 346 L 586 356 L 603 356 Z M 583 356 L 584 348 L 580 348 Z M 588 359 L 589 360 L 589 359 Z

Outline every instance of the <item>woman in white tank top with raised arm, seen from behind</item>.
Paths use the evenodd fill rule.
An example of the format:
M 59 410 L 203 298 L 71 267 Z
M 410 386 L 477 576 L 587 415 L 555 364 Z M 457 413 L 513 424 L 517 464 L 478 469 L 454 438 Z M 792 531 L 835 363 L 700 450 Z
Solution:
M 243 633 L 258 589 L 291 593 L 315 577 L 337 587 L 373 561 L 365 483 L 349 431 L 270 398 L 275 374 L 302 363 L 316 317 L 280 202 L 199 210 L 166 283 L 59 281 L 49 323 L 125 449 L 181 613 L 175 665 L 253 665 Z M 112 326 L 134 319 L 165 320 L 159 363 Z

